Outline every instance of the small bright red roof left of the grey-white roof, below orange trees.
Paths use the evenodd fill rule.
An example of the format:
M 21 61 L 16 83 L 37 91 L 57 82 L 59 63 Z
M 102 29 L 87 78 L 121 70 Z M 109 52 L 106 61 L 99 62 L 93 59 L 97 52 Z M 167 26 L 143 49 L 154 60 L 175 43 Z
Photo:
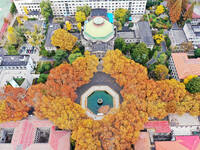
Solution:
M 168 121 L 148 121 L 144 128 L 155 129 L 156 133 L 170 133 L 171 129 Z

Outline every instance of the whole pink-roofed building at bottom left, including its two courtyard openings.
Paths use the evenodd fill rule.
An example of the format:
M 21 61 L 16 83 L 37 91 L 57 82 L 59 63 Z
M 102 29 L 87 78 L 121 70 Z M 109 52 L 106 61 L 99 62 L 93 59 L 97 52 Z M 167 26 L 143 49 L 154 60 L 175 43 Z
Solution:
M 35 117 L 2 123 L 0 150 L 70 150 L 70 132 Z

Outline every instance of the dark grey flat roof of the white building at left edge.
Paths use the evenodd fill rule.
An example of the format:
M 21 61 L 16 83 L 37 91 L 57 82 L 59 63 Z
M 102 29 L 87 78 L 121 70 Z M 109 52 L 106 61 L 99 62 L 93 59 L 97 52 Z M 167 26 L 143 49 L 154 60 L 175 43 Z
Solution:
M 1 56 L 0 66 L 26 66 L 29 55 L 4 55 Z

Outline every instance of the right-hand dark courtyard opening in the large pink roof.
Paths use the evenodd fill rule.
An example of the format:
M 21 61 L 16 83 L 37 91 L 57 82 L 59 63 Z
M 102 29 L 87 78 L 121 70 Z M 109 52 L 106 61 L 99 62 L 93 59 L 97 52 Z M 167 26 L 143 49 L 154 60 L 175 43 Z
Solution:
M 48 143 L 49 135 L 50 135 L 49 128 L 37 128 L 34 143 Z

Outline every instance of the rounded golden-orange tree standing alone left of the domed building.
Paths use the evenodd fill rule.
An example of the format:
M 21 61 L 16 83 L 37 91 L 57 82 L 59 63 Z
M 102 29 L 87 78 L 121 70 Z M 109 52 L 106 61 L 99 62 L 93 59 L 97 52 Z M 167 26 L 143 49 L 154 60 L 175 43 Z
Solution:
M 60 47 L 62 50 L 71 51 L 77 40 L 77 37 L 66 30 L 57 29 L 51 37 L 51 44 Z

